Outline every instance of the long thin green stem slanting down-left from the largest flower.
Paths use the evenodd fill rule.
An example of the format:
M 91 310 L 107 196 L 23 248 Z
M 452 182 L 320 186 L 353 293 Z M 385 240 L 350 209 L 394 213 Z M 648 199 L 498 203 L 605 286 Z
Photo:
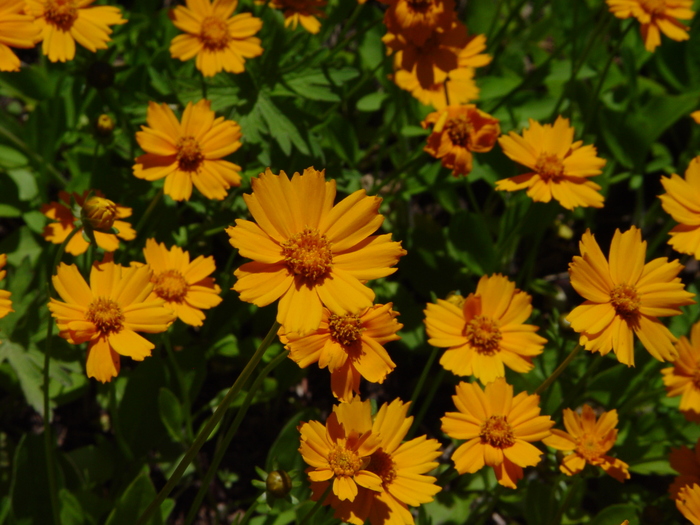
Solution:
M 204 445 L 204 443 L 207 441 L 209 435 L 216 428 L 216 425 L 219 424 L 221 418 L 224 416 L 226 410 L 228 410 L 228 407 L 231 405 L 238 393 L 248 382 L 250 375 L 253 373 L 253 370 L 255 370 L 255 367 L 260 362 L 260 359 L 262 358 L 263 354 L 268 349 L 270 344 L 272 344 L 272 341 L 277 337 L 277 330 L 279 330 L 279 328 L 280 324 L 277 321 L 275 321 L 272 325 L 272 328 L 270 328 L 270 331 L 265 336 L 265 339 L 263 339 L 262 343 L 260 343 L 260 346 L 255 351 L 253 357 L 250 359 L 250 361 L 248 361 L 248 364 L 238 376 L 236 382 L 233 383 L 229 391 L 226 393 L 224 399 L 214 411 L 214 414 L 211 416 L 211 418 L 209 418 L 209 421 L 207 421 L 206 425 L 204 425 L 204 428 L 202 428 L 202 430 L 199 431 L 199 434 L 195 438 L 194 443 L 192 443 L 192 446 L 187 450 L 185 456 L 180 460 L 180 463 L 178 463 L 177 467 L 175 468 L 175 471 L 170 476 L 170 479 L 168 479 L 165 486 L 158 493 L 156 499 L 154 499 L 151 502 L 151 504 L 146 508 L 144 513 L 136 522 L 136 525 L 143 525 L 147 523 L 153 515 L 153 513 L 160 508 L 160 505 L 163 503 L 165 498 L 168 497 L 175 485 L 177 485 L 178 481 L 180 481 L 180 478 L 182 477 L 182 474 L 184 474 L 185 469 L 187 469 L 189 464 L 199 452 L 199 449 L 202 448 L 202 445 Z

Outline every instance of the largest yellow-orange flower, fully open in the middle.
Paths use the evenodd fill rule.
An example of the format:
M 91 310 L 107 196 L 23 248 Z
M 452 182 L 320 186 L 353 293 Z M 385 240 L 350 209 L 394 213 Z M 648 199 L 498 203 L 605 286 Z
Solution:
M 266 306 L 280 299 L 277 322 L 306 335 L 321 324 L 323 306 L 336 315 L 372 306 L 364 283 L 386 277 L 406 251 L 391 234 L 371 235 L 384 222 L 379 197 L 357 190 L 333 206 L 335 181 L 307 168 L 290 180 L 268 168 L 244 195 L 257 224 L 236 219 L 226 232 L 243 257 L 234 275 L 241 300 Z

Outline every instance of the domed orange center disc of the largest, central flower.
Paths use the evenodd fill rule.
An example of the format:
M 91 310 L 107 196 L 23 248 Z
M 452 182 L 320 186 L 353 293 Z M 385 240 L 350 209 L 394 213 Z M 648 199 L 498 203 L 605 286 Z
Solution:
M 282 243 L 282 255 L 287 268 L 314 282 L 327 276 L 333 268 L 331 243 L 318 230 L 304 228 L 304 231 Z

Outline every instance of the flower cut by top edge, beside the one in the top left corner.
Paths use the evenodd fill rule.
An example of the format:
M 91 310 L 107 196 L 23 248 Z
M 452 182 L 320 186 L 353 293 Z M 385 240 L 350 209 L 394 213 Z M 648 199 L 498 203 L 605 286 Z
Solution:
M 75 57 L 75 43 L 95 53 L 107 49 L 109 26 L 126 24 L 118 7 L 90 5 L 95 0 L 26 0 L 25 12 L 41 29 L 42 51 L 51 62 Z

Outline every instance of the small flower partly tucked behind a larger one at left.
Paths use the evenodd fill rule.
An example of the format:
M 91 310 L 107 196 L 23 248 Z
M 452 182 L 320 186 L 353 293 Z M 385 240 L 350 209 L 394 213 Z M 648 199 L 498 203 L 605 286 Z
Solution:
M 190 254 L 178 246 L 168 250 L 155 239 L 148 239 L 143 249 L 146 263 L 153 270 L 153 292 L 149 300 L 163 299 L 184 323 L 202 326 L 202 309 L 221 302 L 221 288 L 209 275 L 216 270 L 213 257 L 200 255 L 190 261 Z

